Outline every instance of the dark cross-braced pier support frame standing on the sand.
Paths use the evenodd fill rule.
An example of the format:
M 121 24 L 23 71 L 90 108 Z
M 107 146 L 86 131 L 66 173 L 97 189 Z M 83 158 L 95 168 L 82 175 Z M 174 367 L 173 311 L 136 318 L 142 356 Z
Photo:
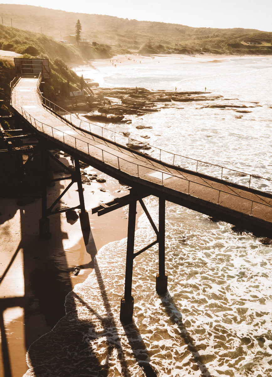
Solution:
M 53 173 L 52 171 L 50 171 L 49 157 L 54 159 L 61 166 L 63 166 L 65 170 L 68 170 L 70 172 L 70 176 L 54 179 Z M 83 231 L 90 232 L 90 221 L 89 221 L 88 212 L 85 209 L 79 160 L 78 158 L 75 158 L 74 161 L 75 161 L 75 167 L 67 167 L 57 158 L 55 158 L 52 155 L 49 155 L 45 147 L 41 149 L 42 179 L 41 179 L 41 219 L 40 219 L 40 227 L 39 227 L 40 238 L 48 239 L 51 237 L 50 230 L 49 230 L 50 221 L 49 221 L 48 216 L 54 215 L 56 213 L 67 212 L 69 210 L 75 210 L 76 208 L 80 209 L 79 220 L 81 224 L 81 229 Z M 58 196 L 58 198 L 50 205 L 50 207 L 47 208 L 47 186 L 55 185 L 55 182 L 62 181 L 65 179 L 71 179 L 71 182 L 63 190 L 63 192 Z M 63 195 L 70 189 L 73 183 L 77 183 L 78 185 L 79 205 L 72 208 L 59 208 L 59 209 L 54 210 L 55 205 L 58 203 L 58 201 L 60 201 Z M 87 237 L 84 237 L 85 241 L 86 239 Z

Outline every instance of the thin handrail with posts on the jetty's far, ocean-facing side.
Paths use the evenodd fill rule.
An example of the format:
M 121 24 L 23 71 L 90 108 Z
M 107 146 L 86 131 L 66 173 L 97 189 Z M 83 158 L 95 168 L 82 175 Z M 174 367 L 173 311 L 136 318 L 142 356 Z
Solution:
M 40 88 L 39 88 L 40 83 L 38 84 L 38 82 L 39 82 L 39 79 L 38 79 L 38 81 L 37 81 L 37 92 L 38 92 L 39 97 L 40 97 L 40 99 L 41 99 L 41 103 L 43 104 L 43 106 L 44 106 L 46 109 L 50 110 L 50 112 L 51 112 L 52 114 L 54 114 L 55 116 L 57 116 L 57 114 L 60 115 L 60 120 L 61 120 L 61 121 L 64 121 L 64 120 L 63 120 L 63 117 L 62 117 L 62 115 L 64 115 L 65 120 L 66 120 L 66 123 L 67 123 L 67 119 L 66 119 L 66 114 L 67 114 L 67 115 L 68 115 L 68 118 L 70 118 L 69 121 L 70 121 L 70 124 L 71 124 L 72 126 L 75 126 L 75 127 L 78 127 L 79 129 L 81 129 L 81 127 L 82 127 L 81 125 L 82 125 L 82 124 L 87 124 L 87 126 L 89 126 L 90 132 L 91 132 L 91 125 L 92 125 L 92 126 L 95 126 L 95 127 L 98 127 L 98 128 L 101 129 L 101 135 L 98 135 L 98 134 L 97 134 L 97 135 L 98 135 L 98 136 L 102 136 L 104 139 L 106 139 L 106 140 L 108 140 L 108 141 L 111 141 L 111 140 L 108 139 L 108 138 L 105 138 L 105 137 L 103 136 L 103 130 L 105 130 L 106 132 L 113 133 L 113 139 L 114 139 L 114 141 L 116 140 L 116 135 L 121 136 L 121 138 L 125 138 L 125 139 L 128 141 L 128 143 L 126 143 L 126 145 L 130 144 L 130 141 L 138 141 L 138 140 L 133 139 L 133 138 L 130 138 L 130 137 L 128 137 L 128 136 L 124 136 L 124 135 L 122 135 L 121 133 L 118 133 L 118 132 L 115 132 L 115 131 L 113 131 L 113 130 L 107 129 L 107 128 L 105 128 L 105 127 L 99 126 L 98 124 L 95 124 L 95 123 L 87 122 L 87 121 L 85 121 L 85 120 L 80 120 L 80 124 L 79 124 L 79 126 L 76 126 L 76 125 L 73 124 L 73 122 L 72 122 L 72 117 L 75 118 L 75 120 L 78 120 L 78 118 L 76 118 L 75 116 L 73 116 L 73 115 L 72 115 L 71 113 L 69 113 L 67 110 L 65 110 L 65 109 L 61 108 L 60 106 L 56 105 L 56 104 L 53 103 L 52 101 L 47 100 L 47 98 L 44 98 L 43 95 L 41 94 L 41 91 L 40 91 Z M 57 112 L 57 109 L 59 109 L 59 110 L 58 110 L 59 112 Z M 63 113 L 63 114 L 61 115 L 61 113 Z M 84 130 L 84 129 L 83 129 L 83 130 Z M 105 132 L 104 132 L 104 134 L 105 134 Z M 138 142 L 139 142 L 139 141 L 138 141 Z M 221 170 L 221 171 L 220 171 L 221 179 L 223 179 L 223 169 L 228 170 L 228 171 L 230 171 L 230 172 L 235 172 L 235 173 L 238 173 L 238 174 L 241 174 L 241 175 L 246 175 L 246 176 L 248 176 L 248 185 L 246 185 L 246 184 L 244 184 L 244 183 L 241 183 L 241 182 L 237 182 L 237 181 L 236 181 L 236 182 L 228 181 L 228 180 L 225 178 L 225 181 L 228 181 L 228 182 L 231 182 L 231 183 L 238 183 L 238 184 L 240 184 L 241 186 L 244 186 L 244 187 L 248 187 L 248 188 L 250 188 L 252 178 L 264 179 L 264 180 L 266 180 L 266 181 L 272 182 L 272 179 L 264 178 L 264 177 L 259 176 L 259 175 L 256 175 L 256 174 L 245 173 L 245 172 L 241 172 L 240 170 L 230 169 L 230 168 L 228 168 L 228 167 L 220 166 L 220 165 L 217 165 L 217 164 L 212 164 L 212 163 L 210 163 L 210 162 L 205 162 L 205 161 L 201 161 L 201 160 L 194 159 L 194 158 L 191 158 L 191 157 L 186 157 L 186 156 L 182 156 L 182 155 L 177 155 L 176 153 L 168 152 L 168 151 L 166 151 L 166 150 L 164 150 L 164 149 L 161 149 L 161 148 L 157 148 L 157 147 L 151 146 L 150 144 L 144 143 L 144 142 L 142 142 L 142 141 L 140 141 L 139 143 L 142 143 L 142 144 L 143 144 L 143 149 L 144 149 L 144 152 L 143 152 L 143 153 L 138 151 L 139 153 L 142 153 L 143 155 L 145 155 L 145 154 L 146 154 L 146 152 L 145 152 L 145 148 L 146 148 L 146 147 L 148 147 L 148 149 L 150 149 L 150 147 L 153 148 L 153 149 L 157 149 L 158 152 L 159 152 L 159 159 L 154 158 L 155 160 L 157 160 L 157 161 L 162 161 L 162 162 L 167 162 L 167 161 L 164 161 L 164 160 L 162 159 L 162 153 L 167 153 L 168 155 L 171 155 L 171 156 L 172 156 L 172 157 L 171 157 L 171 165 L 176 166 L 176 167 L 180 167 L 180 165 L 177 164 L 177 162 L 175 163 L 175 161 L 178 161 L 180 158 L 182 158 L 182 159 L 186 159 L 186 160 L 194 161 L 194 162 L 196 163 L 196 169 L 195 169 L 195 170 L 192 170 L 192 168 L 190 167 L 190 170 L 191 170 L 191 171 L 195 171 L 195 172 L 197 172 L 197 173 L 199 172 L 199 167 L 200 167 L 200 165 L 201 165 L 201 164 L 204 164 L 205 166 L 209 165 L 209 166 L 212 166 L 212 167 L 217 167 L 217 168 L 219 168 L 219 169 Z M 209 175 L 211 175 L 211 173 L 209 173 Z M 215 174 L 214 174 L 214 175 L 211 175 L 211 176 L 213 176 L 214 178 L 218 178 L 218 176 L 216 176 Z

